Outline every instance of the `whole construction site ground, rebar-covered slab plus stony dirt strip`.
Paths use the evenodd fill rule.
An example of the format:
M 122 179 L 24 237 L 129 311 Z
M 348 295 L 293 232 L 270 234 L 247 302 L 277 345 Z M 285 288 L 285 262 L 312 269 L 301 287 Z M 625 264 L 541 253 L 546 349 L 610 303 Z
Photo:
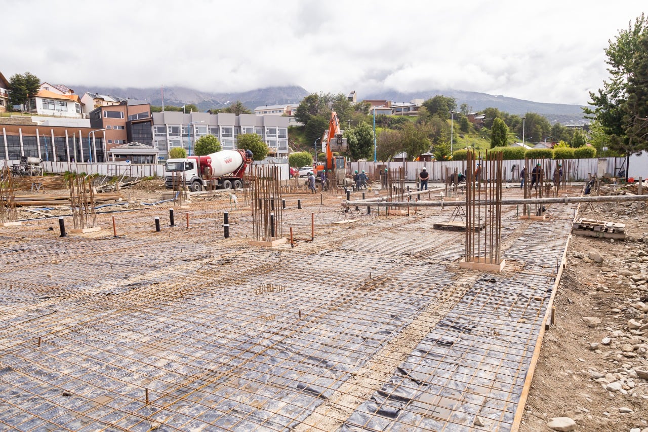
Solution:
M 571 237 L 575 205 L 547 221 L 505 206 L 507 265 L 488 273 L 459 269 L 463 232 L 432 229 L 450 207 L 344 213 L 341 192 L 286 194 L 295 247 L 259 248 L 246 193 L 192 195 L 170 227 L 162 189 L 122 191 L 98 232 L 59 237 L 44 216 L 65 206 L 0 227 L 0 429 L 648 427 L 643 204 L 596 205 L 627 226 L 614 243 Z

